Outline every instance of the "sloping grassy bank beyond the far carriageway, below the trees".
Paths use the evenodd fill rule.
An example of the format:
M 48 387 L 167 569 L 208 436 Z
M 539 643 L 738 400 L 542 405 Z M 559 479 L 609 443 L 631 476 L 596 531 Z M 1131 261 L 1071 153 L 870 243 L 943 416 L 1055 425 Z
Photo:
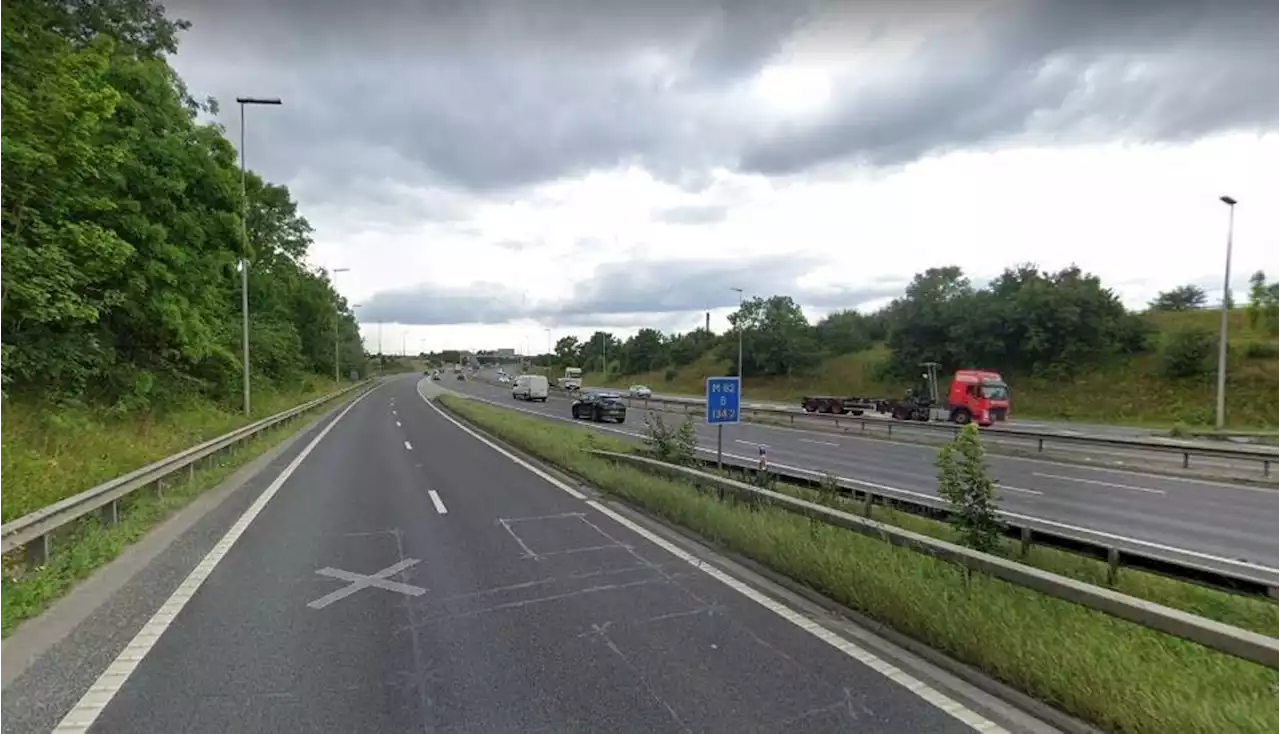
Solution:
M 1160 313 L 1148 318 L 1160 328 L 1158 343 L 1175 330 L 1199 327 L 1217 332 L 1217 311 Z M 1243 309 L 1231 314 L 1228 363 L 1228 424 L 1234 428 L 1276 428 L 1280 425 L 1280 339 L 1261 329 L 1251 329 Z M 883 346 L 865 352 L 823 360 L 818 371 L 806 378 L 748 379 L 745 392 L 755 400 L 794 402 L 803 395 L 863 395 L 891 397 L 901 395 L 902 384 L 877 379 L 878 365 L 887 359 Z M 1070 382 L 1006 375 L 1014 391 L 1018 418 L 1079 420 L 1169 428 L 1176 423 L 1207 427 L 1213 423 L 1215 378 L 1174 380 L 1160 373 L 1160 352 L 1135 357 L 1125 364 L 1088 371 Z M 666 370 L 616 377 L 609 387 L 648 384 L 654 392 L 700 396 L 708 375 L 726 374 L 728 363 L 704 356 L 677 369 L 673 379 Z M 588 374 L 589 384 L 599 384 L 599 374 Z M 942 386 L 943 389 L 946 386 Z

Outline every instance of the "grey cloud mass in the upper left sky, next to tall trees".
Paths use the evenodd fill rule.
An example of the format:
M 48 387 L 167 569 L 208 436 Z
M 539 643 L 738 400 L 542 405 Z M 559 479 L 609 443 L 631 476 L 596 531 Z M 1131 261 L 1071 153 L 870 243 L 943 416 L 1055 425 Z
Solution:
M 724 113 L 701 97 L 753 76 L 814 1 L 170 8 L 195 24 L 175 65 L 197 96 L 221 100 L 229 129 L 237 95 L 284 99 L 250 113 L 269 175 L 376 175 L 394 154 L 394 177 L 489 192 L 627 163 L 678 177 L 724 160 L 705 140 Z M 672 124 L 681 119 L 691 124 Z

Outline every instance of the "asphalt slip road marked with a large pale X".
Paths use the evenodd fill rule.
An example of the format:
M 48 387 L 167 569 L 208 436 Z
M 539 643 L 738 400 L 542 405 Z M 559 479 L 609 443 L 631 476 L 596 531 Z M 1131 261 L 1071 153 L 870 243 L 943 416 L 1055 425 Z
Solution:
M 59 730 L 1028 730 L 535 473 L 416 383 L 276 462 Z M 101 658 L 79 652 L 45 675 Z M 37 698 L 0 719 L 41 730 L 13 708 Z

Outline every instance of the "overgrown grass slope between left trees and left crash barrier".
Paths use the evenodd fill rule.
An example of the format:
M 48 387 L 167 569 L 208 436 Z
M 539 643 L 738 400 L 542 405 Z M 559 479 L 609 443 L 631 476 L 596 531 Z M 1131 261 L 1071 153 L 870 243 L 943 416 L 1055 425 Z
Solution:
M 333 380 L 316 377 L 294 389 L 255 391 L 252 418 L 211 402 L 123 418 L 0 404 L 0 523 L 335 389 Z

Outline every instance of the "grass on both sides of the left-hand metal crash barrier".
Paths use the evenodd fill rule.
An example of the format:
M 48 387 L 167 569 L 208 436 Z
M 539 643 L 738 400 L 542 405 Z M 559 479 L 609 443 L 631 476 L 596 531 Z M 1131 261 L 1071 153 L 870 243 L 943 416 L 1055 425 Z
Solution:
M 170 456 L 241 425 L 334 392 L 330 379 L 311 378 L 294 389 L 253 395 L 253 416 L 201 402 L 161 415 L 108 418 L 84 410 L 49 410 L 38 405 L 0 404 L 0 524 L 70 497 L 140 466 Z M 0 638 L 42 612 L 76 582 L 115 559 L 129 543 L 216 485 L 303 424 L 275 430 L 244 444 L 234 456 L 177 482 L 164 496 L 142 492 L 120 503 L 120 521 L 105 526 L 95 516 L 76 523 L 52 542 L 49 564 L 23 569 L 20 553 L 0 557 Z

